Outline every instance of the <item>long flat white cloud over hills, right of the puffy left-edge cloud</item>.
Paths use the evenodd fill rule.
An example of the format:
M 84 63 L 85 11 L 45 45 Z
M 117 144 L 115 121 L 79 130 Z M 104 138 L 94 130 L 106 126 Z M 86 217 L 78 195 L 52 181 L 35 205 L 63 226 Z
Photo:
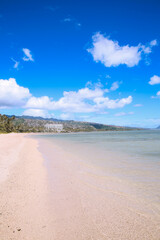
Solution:
M 63 97 L 53 101 L 47 96 L 40 98 L 31 97 L 26 108 L 40 108 L 50 110 L 61 110 L 69 113 L 91 113 L 102 112 L 105 109 L 122 108 L 132 102 L 132 97 L 111 100 L 105 96 L 106 89 L 88 87 L 76 91 L 64 92 Z

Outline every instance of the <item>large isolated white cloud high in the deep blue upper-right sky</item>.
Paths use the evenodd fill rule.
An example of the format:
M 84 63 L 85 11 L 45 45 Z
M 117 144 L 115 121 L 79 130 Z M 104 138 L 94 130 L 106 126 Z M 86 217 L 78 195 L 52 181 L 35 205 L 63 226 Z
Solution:
M 156 40 L 153 40 L 148 46 L 141 44 L 120 46 L 118 41 L 113 41 L 101 33 L 96 33 L 92 39 L 93 46 L 87 51 L 92 54 L 94 61 L 101 62 L 106 67 L 116 67 L 120 64 L 128 67 L 136 66 L 142 59 L 142 53 L 149 54 L 152 47 L 157 45 Z

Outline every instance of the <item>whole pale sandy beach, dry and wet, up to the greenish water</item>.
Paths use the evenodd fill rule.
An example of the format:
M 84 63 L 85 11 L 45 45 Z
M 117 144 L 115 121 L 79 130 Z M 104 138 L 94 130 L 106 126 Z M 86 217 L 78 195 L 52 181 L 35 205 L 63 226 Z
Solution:
M 147 207 L 57 145 L 0 135 L 0 170 L 0 240 L 160 239 Z

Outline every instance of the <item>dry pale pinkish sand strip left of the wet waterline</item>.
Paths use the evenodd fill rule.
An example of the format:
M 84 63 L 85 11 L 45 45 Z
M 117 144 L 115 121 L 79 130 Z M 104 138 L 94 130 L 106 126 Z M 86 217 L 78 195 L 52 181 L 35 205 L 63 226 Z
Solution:
M 43 158 L 24 136 L 0 135 L 0 240 L 54 239 Z

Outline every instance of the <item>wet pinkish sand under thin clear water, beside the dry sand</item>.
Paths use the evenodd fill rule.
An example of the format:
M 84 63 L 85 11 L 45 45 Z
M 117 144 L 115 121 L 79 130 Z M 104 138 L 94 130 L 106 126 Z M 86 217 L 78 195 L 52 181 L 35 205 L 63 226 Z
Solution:
M 160 218 L 155 220 L 146 214 L 147 206 L 123 194 L 120 181 L 104 177 L 103 171 L 84 164 L 59 143 L 39 139 L 39 149 L 46 159 L 52 212 L 60 218 L 54 220 L 57 239 L 159 238 Z

